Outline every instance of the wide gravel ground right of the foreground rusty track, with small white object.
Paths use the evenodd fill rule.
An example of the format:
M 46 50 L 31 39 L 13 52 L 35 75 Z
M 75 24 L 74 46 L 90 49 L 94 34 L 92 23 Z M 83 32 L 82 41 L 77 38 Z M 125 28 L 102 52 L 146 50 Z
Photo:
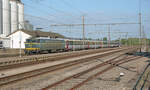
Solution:
M 122 67 L 130 68 L 130 70 L 115 67 L 78 90 L 132 90 L 138 76 L 148 64 L 147 60 L 149 59 L 143 57 L 121 65 Z M 117 81 L 120 73 L 124 73 L 125 75 L 121 77 L 120 81 Z

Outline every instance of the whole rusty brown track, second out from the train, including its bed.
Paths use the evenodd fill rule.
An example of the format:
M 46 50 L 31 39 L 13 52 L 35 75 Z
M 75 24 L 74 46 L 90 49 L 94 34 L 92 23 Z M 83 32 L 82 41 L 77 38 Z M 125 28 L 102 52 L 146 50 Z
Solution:
M 102 57 L 105 57 L 108 55 L 112 55 L 113 53 L 122 52 L 124 50 L 126 50 L 126 52 L 131 51 L 131 49 L 130 50 L 129 49 L 116 50 L 116 51 L 112 51 L 112 52 L 97 55 L 97 56 L 92 56 L 92 57 L 88 57 L 88 58 L 84 58 L 84 59 L 79 59 L 76 61 L 70 61 L 70 62 L 57 64 L 57 65 L 46 67 L 46 68 L 36 69 L 33 71 L 29 71 L 29 72 L 24 72 L 24 73 L 12 75 L 12 76 L 3 77 L 3 78 L 0 78 L 0 87 L 4 86 L 4 85 L 15 83 L 15 82 L 18 82 L 21 80 L 25 80 L 27 78 L 32 78 L 35 76 L 39 76 L 39 75 L 43 75 L 43 74 L 50 73 L 53 71 L 61 70 L 61 69 L 67 68 L 67 67 L 71 67 L 73 65 L 86 63 L 86 62 L 91 61 L 92 59 L 102 58 Z

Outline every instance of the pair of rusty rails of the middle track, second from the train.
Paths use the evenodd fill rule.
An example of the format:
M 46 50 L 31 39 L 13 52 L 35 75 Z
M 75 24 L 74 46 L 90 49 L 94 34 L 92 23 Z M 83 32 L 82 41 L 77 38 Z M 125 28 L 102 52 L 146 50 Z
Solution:
M 121 52 L 121 51 L 124 51 L 124 50 L 128 50 L 128 49 L 121 49 L 121 50 L 118 50 L 118 51 L 115 51 L 115 52 L 117 53 L 117 52 Z M 34 71 L 29 71 L 29 72 L 25 72 L 25 73 L 20 73 L 20 74 L 8 76 L 8 77 L 0 78 L 0 81 L 5 81 L 5 80 L 13 78 L 13 77 L 23 76 L 23 75 L 26 75 L 26 74 L 28 75 L 29 73 L 39 72 L 41 70 L 48 69 L 48 71 L 45 71 L 45 72 L 41 72 L 41 73 L 38 73 L 38 74 L 35 74 L 35 75 L 31 75 L 31 76 L 27 76 L 27 77 L 23 76 L 23 78 L 12 80 L 12 81 L 8 81 L 6 83 L 2 83 L 2 84 L 0 84 L 0 86 L 8 85 L 8 84 L 11 84 L 11 83 L 14 83 L 14 82 L 18 82 L 18 81 L 21 81 L 21 80 L 24 80 L 24 79 L 27 79 L 27 78 L 32 78 L 32 77 L 35 77 L 35 76 L 39 76 L 41 74 L 50 73 L 50 72 L 53 72 L 53 71 L 56 71 L 56 70 L 61 70 L 61 69 L 67 68 L 67 67 L 71 67 L 73 65 L 81 64 L 81 63 L 87 62 L 87 59 L 88 59 L 88 61 L 91 61 L 91 59 L 94 59 L 94 58 L 105 57 L 106 55 L 112 54 L 112 53 L 115 53 L 115 52 L 105 53 L 105 54 L 99 55 L 97 57 L 93 56 L 93 57 L 90 57 L 90 58 L 81 59 L 81 61 L 78 61 L 78 62 L 77 61 L 72 61 L 72 62 L 62 63 L 62 64 L 58 64 L 58 65 L 51 66 L 51 67 L 41 68 L 41 69 L 37 69 L 37 70 L 34 70 Z

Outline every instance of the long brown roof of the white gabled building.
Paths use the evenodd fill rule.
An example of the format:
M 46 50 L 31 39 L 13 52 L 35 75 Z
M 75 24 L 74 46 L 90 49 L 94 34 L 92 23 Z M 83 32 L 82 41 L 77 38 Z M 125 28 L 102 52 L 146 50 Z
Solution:
M 20 30 L 17 30 L 17 31 L 20 31 Z M 17 31 L 9 34 L 8 36 L 16 33 Z M 65 36 L 63 35 L 60 35 L 58 33 L 52 33 L 52 32 L 43 32 L 43 31 L 40 31 L 40 30 L 36 30 L 36 31 L 29 31 L 29 30 L 21 30 L 22 32 L 26 33 L 26 34 L 29 34 L 31 35 L 32 37 L 51 37 L 51 38 L 65 38 Z M 8 37 L 7 36 L 7 37 Z

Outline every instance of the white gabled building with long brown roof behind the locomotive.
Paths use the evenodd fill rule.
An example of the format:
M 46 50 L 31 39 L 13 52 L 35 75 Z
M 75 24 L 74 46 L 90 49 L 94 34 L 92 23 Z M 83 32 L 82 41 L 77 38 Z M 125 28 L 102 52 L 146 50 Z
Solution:
M 7 36 L 10 38 L 10 48 L 18 49 L 25 48 L 26 39 L 32 37 L 50 37 L 50 38 L 65 38 L 63 35 L 51 32 L 43 32 L 43 31 L 30 31 L 30 30 L 17 30 L 12 34 Z M 21 45 L 20 45 L 21 41 Z

